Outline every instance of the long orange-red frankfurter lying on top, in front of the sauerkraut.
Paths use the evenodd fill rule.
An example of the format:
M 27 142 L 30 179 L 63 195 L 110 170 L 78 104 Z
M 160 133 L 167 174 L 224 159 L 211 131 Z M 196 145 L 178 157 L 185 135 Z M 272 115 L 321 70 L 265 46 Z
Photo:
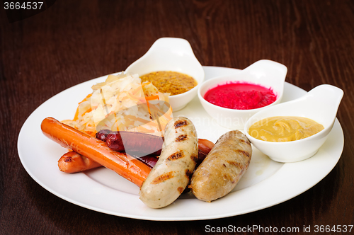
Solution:
M 72 149 L 98 164 L 110 168 L 120 176 L 130 180 L 139 187 L 147 178 L 151 168 L 129 154 L 113 151 L 102 142 L 89 134 L 65 125 L 52 117 L 47 117 L 41 124 L 42 132 L 62 147 Z

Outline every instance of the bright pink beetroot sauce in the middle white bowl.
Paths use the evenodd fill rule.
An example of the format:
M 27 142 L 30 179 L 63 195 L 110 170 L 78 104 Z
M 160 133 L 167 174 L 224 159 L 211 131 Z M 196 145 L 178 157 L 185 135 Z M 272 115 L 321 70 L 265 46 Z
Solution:
M 205 93 L 204 98 L 223 108 L 249 110 L 270 105 L 277 96 L 272 88 L 246 82 L 229 82 L 211 88 Z

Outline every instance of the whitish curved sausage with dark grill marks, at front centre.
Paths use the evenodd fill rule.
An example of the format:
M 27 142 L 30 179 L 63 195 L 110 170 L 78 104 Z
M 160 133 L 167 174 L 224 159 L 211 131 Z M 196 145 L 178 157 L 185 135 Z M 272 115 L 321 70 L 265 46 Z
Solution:
M 166 125 L 162 152 L 140 188 L 140 199 L 147 206 L 170 205 L 187 187 L 198 160 L 198 137 L 186 117 L 174 117 Z

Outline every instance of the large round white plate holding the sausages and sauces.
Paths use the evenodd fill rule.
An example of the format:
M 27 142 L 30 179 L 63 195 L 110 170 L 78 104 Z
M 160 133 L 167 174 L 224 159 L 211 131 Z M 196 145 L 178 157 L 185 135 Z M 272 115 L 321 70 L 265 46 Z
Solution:
M 205 79 L 239 71 L 222 67 L 204 69 Z M 50 98 L 28 117 L 18 137 L 18 154 L 28 174 L 50 193 L 81 207 L 121 217 L 166 221 L 216 219 L 245 214 L 277 205 L 308 190 L 336 166 L 343 151 L 343 130 L 336 120 L 329 139 L 310 159 L 280 164 L 253 148 L 249 170 L 229 195 L 207 203 L 186 194 L 168 207 L 151 209 L 139 200 L 136 185 L 106 168 L 86 173 L 60 172 L 57 161 L 66 149 L 47 139 L 40 131 L 40 122 L 45 117 L 55 117 L 57 120 L 74 117 L 77 103 L 91 93 L 93 84 L 103 79 L 105 76 L 86 81 Z M 282 101 L 290 101 L 305 93 L 301 88 L 285 83 Z M 229 131 L 207 115 L 198 97 L 174 115 L 190 118 L 197 128 L 198 137 L 212 142 Z

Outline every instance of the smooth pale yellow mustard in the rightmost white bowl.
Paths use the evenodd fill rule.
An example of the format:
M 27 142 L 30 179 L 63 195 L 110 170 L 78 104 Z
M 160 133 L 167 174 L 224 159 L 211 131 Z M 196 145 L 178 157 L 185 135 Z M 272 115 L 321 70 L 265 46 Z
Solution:
M 249 128 L 251 137 L 268 142 L 289 142 L 310 137 L 324 126 L 306 117 L 268 117 Z

